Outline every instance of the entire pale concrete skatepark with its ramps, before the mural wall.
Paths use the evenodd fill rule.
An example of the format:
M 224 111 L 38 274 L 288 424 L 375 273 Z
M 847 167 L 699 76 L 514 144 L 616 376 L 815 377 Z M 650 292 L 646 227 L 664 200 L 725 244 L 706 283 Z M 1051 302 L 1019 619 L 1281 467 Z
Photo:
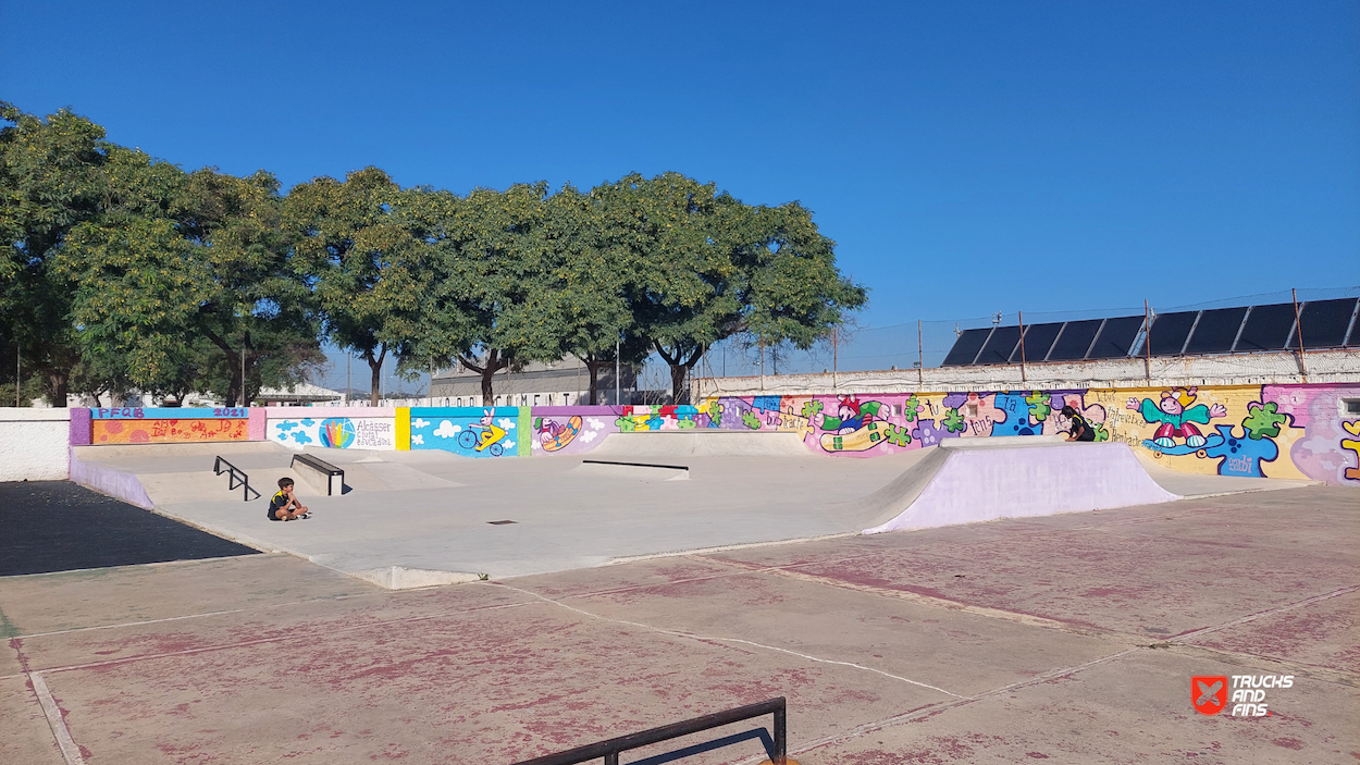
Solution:
M 269 442 L 151 444 L 78 446 L 75 459 L 120 476 L 156 512 L 390 588 L 1308 485 L 1176 474 L 1144 466 L 1123 444 L 1061 437 L 838 460 L 809 453 L 793 433 L 650 432 L 611 434 L 583 459 L 307 449 L 345 471 L 347 491 L 328 497 L 290 467 L 295 453 Z M 212 472 L 219 455 L 262 498 L 228 490 Z M 298 481 L 314 519 L 264 517 L 282 476 Z

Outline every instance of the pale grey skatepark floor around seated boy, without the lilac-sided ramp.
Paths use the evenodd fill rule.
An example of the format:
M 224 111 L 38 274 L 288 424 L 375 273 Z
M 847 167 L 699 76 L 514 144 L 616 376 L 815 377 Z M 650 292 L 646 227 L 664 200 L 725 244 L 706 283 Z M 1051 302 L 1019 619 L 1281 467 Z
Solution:
M 627 436 L 612 434 L 605 445 L 620 451 L 635 444 L 624 442 Z M 657 437 L 636 442 L 643 452 L 694 448 L 685 434 L 647 436 Z M 730 441 L 734 436 L 721 438 Z M 1009 441 L 1015 446 L 1010 451 L 1024 453 L 1081 451 L 1080 445 L 1035 441 L 1024 448 L 1024 441 Z M 760 445 L 768 451 L 787 442 L 766 437 Z M 280 524 L 264 517 L 264 505 L 277 478 L 294 475 L 287 467 L 294 452 L 273 444 L 241 445 L 239 453 L 231 455 L 233 464 L 249 472 L 252 486 L 264 493 L 260 500 L 243 502 L 239 490 L 227 490 L 226 476 L 212 475 L 214 453 L 208 446 L 214 445 L 203 446 L 197 452 L 165 445 L 91 446 L 79 448 L 78 456 L 135 474 L 156 509 L 169 516 L 260 550 L 292 553 L 388 587 L 443 584 L 479 574 L 524 576 L 688 550 L 857 534 L 903 509 L 894 498 L 872 497 L 874 491 L 938 451 L 915 449 L 868 460 L 782 455 L 634 460 L 688 468 L 685 481 L 665 481 L 676 471 L 601 471 L 583 464 L 600 459 L 604 445 L 585 457 L 480 460 L 439 451 L 329 449 L 324 459 L 345 470 L 352 490 L 322 497 L 299 485 L 299 495 L 316 517 Z M 710 444 L 700 451 L 714 449 Z M 997 446 L 983 456 L 998 459 L 1006 452 Z M 1137 464 L 1133 470 L 1138 470 Z M 1074 478 L 1087 483 L 1092 479 Z M 1296 485 L 1220 476 L 1167 479 L 1179 482 L 1180 490 L 1174 490 L 1178 494 Z M 1040 494 L 1064 498 L 1070 491 L 1054 487 Z M 1010 505 L 1004 494 L 993 500 L 987 504 Z M 517 523 L 492 525 L 492 520 Z

